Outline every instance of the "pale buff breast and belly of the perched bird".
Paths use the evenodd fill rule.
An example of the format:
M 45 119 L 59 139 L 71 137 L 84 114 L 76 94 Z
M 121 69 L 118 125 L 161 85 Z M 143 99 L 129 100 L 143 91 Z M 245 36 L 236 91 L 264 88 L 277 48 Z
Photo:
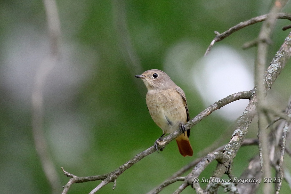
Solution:
M 146 104 L 152 120 L 163 133 L 171 133 L 187 121 L 183 99 L 175 90 L 149 90 Z

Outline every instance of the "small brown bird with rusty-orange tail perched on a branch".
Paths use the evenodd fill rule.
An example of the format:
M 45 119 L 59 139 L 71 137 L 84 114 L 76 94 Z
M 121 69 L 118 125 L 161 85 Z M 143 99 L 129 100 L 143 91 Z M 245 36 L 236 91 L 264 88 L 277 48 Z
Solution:
M 164 134 L 158 140 L 179 128 L 185 132 L 183 124 L 189 121 L 189 111 L 184 91 L 161 70 L 148 70 L 135 77 L 142 79 L 148 89 L 146 94 L 148 111 L 152 120 L 163 130 Z M 176 138 L 182 156 L 193 155 L 189 136 L 190 129 L 187 130 L 187 135 L 184 133 Z

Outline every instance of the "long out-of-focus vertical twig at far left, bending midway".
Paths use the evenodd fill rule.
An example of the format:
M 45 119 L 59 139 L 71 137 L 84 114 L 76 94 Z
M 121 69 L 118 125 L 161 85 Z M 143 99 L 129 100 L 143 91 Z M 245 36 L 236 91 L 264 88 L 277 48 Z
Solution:
M 61 27 L 56 1 L 43 0 L 43 4 L 47 15 L 47 26 L 50 38 L 50 54 L 45 60 L 42 61 L 42 63 L 40 63 L 34 78 L 33 91 L 31 95 L 32 132 L 36 151 L 38 153 L 42 169 L 45 172 L 45 176 L 52 188 L 52 193 L 59 193 L 61 187 L 60 180 L 54 167 L 52 157 L 49 154 L 47 141 L 43 131 L 43 87 L 48 74 L 54 68 L 58 60 L 58 41 L 61 36 Z

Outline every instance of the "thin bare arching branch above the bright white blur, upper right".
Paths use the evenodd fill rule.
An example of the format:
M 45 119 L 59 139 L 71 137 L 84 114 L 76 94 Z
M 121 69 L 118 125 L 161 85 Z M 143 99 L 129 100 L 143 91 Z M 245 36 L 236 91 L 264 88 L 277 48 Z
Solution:
M 219 42 L 221 40 L 223 40 L 224 38 L 228 37 L 230 34 L 246 27 L 246 26 L 249 26 L 249 25 L 252 25 L 252 24 L 256 24 L 258 22 L 262 22 L 262 21 L 265 21 L 267 19 L 269 14 L 265 14 L 265 15 L 260 15 L 260 16 L 257 16 L 257 17 L 253 17 L 252 19 L 249 19 L 249 20 L 246 20 L 244 22 L 240 22 L 239 24 L 231 27 L 230 29 L 228 29 L 227 31 L 223 32 L 223 33 L 218 33 L 216 32 L 216 37 L 212 40 L 212 42 L 210 43 L 210 45 L 208 46 L 204 56 L 206 56 L 211 48 L 213 47 L 214 43 L 215 42 Z M 289 19 L 291 21 L 291 14 L 288 14 L 288 13 L 278 13 L 277 14 L 277 19 Z M 255 42 L 256 44 L 257 42 Z M 253 45 L 254 42 L 252 42 L 251 45 Z

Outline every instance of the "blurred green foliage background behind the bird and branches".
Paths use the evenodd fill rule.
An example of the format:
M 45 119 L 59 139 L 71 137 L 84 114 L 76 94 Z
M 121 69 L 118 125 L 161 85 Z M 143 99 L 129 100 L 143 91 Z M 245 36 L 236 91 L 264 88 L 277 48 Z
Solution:
M 186 93 L 190 118 L 214 103 L 203 99 L 192 77 L 214 31 L 223 32 L 268 13 L 271 6 L 271 1 L 250 0 L 56 3 L 61 22 L 60 60 L 45 83 L 44 130 L 61 185 L 69 181 L 61 166 L 77 176 L 105 174 L 152 146 L 162 135 L 146 108 L 146 88 L 134 75 L 149 69 L 168 73 Z M 290 3 L 284 11 L 291 12 Z M 49 53 L 44 5 L 35 0 L 2 0 L 0 13 L 0 193 L 51 193 L 31 130 L 34 76 Z M 288 24 L 287 20 L 277 22 L 268 61 L 290 32 L 281 30 Z M 260 26 L 246 27 L 217 42 L 213 49 L 225 46 L 235 51 L 252 71 L 256 48 L 242 50 L 241 46 L 258 36 Z M 290 71 L 288 64 L 268 94 L 276 108 L 282 109 L 288 102 Z M 227 143 L 235 120 L 220 115 L 220 111 L 191 129 L 193 157 L 182 157 L 176 143 L 171 142 L 160 154 L 150 154 L 120 175 L 114 191 L 111 183 L 97 193 L 147 193 L 229 130 L 219 145 Z M 254 120 L 247 138 L 256 134 Z M 255 154 L 256 146 L 239 150 L 235 177 Z M 289 165 L 290 158 L 286 156 L 285 162 Z M 216 162 L 210 164 L 200 177 L 209 178 L 215 166 Z M 99 182 L 74 184 L 68 193 L 89 193 Z M 177 182 L 161 193 L 173 193 L 179 185 Z M 189 187 L 183 193 L 193 192 Z M 290 193 L 285 182 L 281 193 Z

